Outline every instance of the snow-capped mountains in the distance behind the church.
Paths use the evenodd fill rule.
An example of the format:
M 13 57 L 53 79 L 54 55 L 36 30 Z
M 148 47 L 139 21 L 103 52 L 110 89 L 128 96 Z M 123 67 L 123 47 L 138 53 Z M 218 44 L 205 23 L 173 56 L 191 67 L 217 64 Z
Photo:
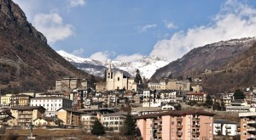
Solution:
M 80 58 L 62 50 L 57 51 L 57 53 L 80 70 L 84 70 L 94 76 L 104 76 L 104 71 L 109 65 L 109 63 L 102 63 L 94 59 Z M 160 59 L 154 56 L 144 56 L 142 59 L 134 62 L 111 61 L 114 69 L 127 71 L 131 76 L 135 76 L 136 70 L 138 69 L 140 70 L 141 76 L 144 76 L 147 79 L 154 74 L 155 70 L 160 69 L 169 63 L 170 62 L 166 59 Z

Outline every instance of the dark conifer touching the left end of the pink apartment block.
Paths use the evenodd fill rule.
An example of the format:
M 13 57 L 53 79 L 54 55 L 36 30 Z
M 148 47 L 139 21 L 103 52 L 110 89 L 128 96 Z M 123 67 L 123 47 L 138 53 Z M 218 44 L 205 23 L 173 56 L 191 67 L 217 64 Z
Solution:
M 136 121 L 132 115 L 128 114 L 126 116 L 124 126 L 121 128 L 120 133 L 126 137 L 136 136 Z

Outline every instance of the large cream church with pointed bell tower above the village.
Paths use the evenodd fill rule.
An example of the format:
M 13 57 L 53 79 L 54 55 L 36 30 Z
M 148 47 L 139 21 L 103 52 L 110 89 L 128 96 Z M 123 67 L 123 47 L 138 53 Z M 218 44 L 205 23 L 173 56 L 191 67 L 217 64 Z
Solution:
M 125 89 L 126 91 L 137 91 L 137 83 L 134 77 L 121 70 L 112 70 L 111 62 L 107 70 L 106 88 L 108 91 Z

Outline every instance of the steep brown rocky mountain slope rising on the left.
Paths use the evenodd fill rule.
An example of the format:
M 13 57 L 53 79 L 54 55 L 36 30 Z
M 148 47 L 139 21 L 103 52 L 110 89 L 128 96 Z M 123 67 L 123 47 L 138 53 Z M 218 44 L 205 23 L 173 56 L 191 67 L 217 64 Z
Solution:
M 45 91 L 61 76 L 90 75 L 75 68 L 47 44 L 46 37 L 11 0 L 0 0 L 0 89 Z

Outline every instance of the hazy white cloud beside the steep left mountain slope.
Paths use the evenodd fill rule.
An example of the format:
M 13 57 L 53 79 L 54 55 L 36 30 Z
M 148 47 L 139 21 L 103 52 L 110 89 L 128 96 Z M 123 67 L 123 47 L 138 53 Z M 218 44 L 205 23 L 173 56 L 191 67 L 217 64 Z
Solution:
M 73 26 L 64 24 L 59 14 L 36 14 L 33 25 L 47 37 L 49 43 L 64 40 L 73 35 Z

